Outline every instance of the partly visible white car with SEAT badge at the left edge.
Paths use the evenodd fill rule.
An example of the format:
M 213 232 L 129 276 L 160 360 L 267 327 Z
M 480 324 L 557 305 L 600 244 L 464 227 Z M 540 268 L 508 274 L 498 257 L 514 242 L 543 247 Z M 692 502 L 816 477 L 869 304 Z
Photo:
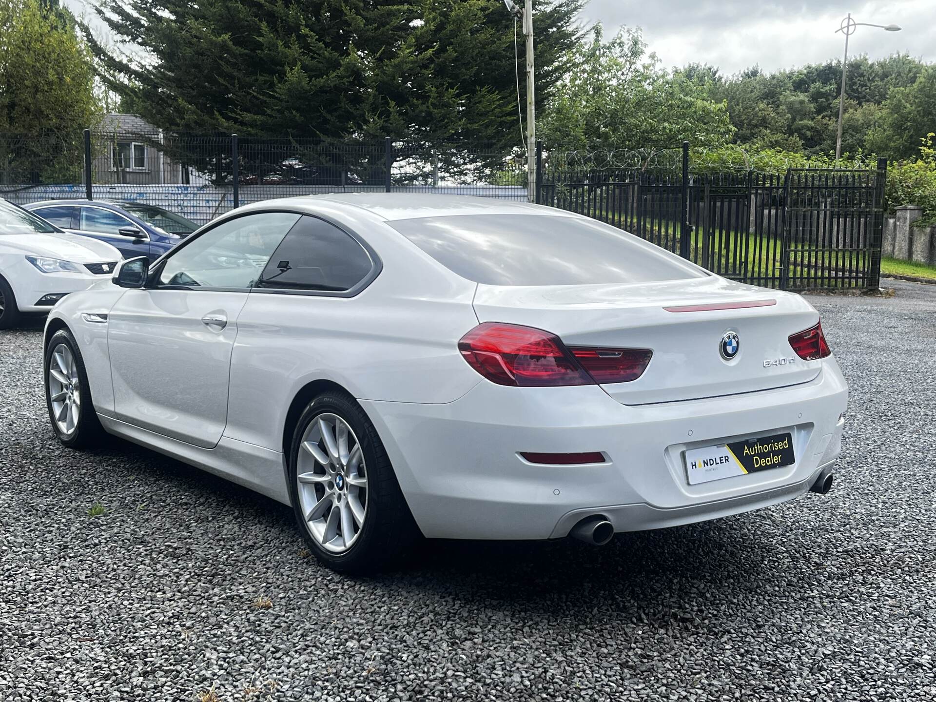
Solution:
M 68 293 L 110 280 L 121 255 L 0 199 L 0 329 L 48 313 Z

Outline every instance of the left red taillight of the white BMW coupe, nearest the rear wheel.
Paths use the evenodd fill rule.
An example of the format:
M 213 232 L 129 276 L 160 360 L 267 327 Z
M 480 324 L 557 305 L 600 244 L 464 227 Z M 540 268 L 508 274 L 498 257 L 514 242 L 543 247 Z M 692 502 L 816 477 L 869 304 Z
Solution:
M 652 356 L 646 349 L 573 348 L 543 329 L 485 322 L 459 342 L 472 368 L 498 385 L 523 388 L 624 383 Z

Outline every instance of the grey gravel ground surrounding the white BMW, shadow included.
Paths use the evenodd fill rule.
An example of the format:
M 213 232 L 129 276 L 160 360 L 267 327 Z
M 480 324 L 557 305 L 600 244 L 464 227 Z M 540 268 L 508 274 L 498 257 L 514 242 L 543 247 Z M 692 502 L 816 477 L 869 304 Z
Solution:
M 40 329 L 0 332 L 0 699 L 932 700 L 936 286 L 893 285 L 812 298 L 852 388 L 828 496 L 359 580 L 282 505 L 59 448 Z

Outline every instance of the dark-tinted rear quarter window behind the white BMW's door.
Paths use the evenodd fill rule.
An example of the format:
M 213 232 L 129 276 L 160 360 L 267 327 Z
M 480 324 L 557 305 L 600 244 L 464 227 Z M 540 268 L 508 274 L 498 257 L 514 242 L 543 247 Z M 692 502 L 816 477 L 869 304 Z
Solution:
M 303 216 L 276 247 L 256 286 L 345 292 L 372 270 L 371 256 L 354 237 Z

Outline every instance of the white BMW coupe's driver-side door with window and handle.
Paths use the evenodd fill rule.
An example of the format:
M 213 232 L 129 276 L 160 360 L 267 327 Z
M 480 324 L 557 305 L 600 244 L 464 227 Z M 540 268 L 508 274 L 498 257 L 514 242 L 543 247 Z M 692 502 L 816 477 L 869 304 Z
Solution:
M 210 448 L 227 423 L 228 372 L 249 290 L 300 215 L 251 212 L 185 241 L 110 310 L 116 416 Z

